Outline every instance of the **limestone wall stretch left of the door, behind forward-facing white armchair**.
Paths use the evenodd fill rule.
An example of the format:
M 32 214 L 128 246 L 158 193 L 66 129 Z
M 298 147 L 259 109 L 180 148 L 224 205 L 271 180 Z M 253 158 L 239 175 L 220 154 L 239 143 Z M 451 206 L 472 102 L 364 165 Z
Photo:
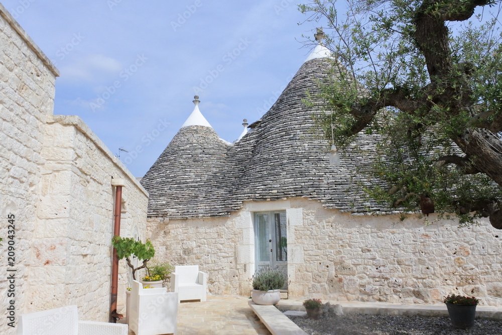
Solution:
M 164 220 L 149 218 L 147 237 L 155 247 L 153 261 L 172 265 L 198 265 L 208 273 L 207 284 L 213 294 L 245 295 L 241 288 L 246 263 L 237 263 L 237 250 L 242 247 L 242 236 L 236 227 L 238 218 L 204 218 Z M 253 273 L 251 273 L 252 275 Z

